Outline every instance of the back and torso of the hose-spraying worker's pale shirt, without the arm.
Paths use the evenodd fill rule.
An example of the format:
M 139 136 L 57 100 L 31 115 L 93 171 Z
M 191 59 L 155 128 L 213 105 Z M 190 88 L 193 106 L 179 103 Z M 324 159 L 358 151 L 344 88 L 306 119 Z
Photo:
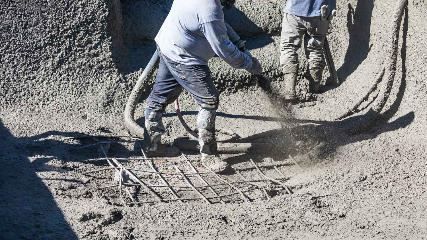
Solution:
M 215 52 L 200 25 L 219 19 L 224 19 L 219 0 L 174 0 L 155 41 L 180 64 L 207 65 Z

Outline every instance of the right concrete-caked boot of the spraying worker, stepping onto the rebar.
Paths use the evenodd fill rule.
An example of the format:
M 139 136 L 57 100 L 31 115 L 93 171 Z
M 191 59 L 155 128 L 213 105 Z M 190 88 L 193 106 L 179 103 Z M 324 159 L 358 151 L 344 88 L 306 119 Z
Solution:
M 200 161 L 213 171 L 224 171 L 229 167 L 218 155 L 215 136 L 216 110 L 200 108 L 197 117 L 199 129 L 199 145 L 202 158 Z

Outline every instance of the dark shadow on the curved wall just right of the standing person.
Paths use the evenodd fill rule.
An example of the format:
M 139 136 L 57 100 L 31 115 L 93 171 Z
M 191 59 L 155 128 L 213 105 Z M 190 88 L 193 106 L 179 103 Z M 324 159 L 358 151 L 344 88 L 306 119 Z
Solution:
M 371 20 L 372 10 L 374 9 L 374 0 L 358 0 L 354 9 L 348 3 L 347 12 L 347 29 L 348 29 L 348 48 L 345 52 L 344 63 L 336 71 L 339 81 L 346 81 L 357 67 L 368 57 L 371 51 Z M 333 51 L 333 49 L 332 49 Z M 329 86 L 330 77 L 327 80 L 328 87 L 324 91 L 331 90 L 335 87 Z

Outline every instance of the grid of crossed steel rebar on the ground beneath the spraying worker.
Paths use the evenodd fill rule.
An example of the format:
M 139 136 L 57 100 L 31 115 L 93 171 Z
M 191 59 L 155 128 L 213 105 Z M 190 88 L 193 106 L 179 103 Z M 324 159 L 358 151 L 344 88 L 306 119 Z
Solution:
M 278 165 L 274 165 L 274 164 L 273 165 L 263 165 L 261 167 L 262 168 L 274 168 L 275 171 L 277 173 L 279 173 L 280 176 L 283 177 L 281 179 L 275 179 L 275 178 L 272 178 L 270 176 L 266 176 L 266 174 L 263 173 L 263 171 L 261 171 L 260 166 L 257 166 L 252 159 L 249 159 L 249 161 L 252 163 L 253 167 L 242 168 L 242 169 L 233 168 L 231 171 L 228 171 L 228 172 L 237 174 L 237 176 L 239 176 L 240 179 L 242 179 L 242 181 L 230 182 L 230 181 L 226 180 L 224 177 L 220 176 L 220 174 L 224 173 L 224 172 L 212 171 L 208 166 L 199 162 L 198 159 L 188 159 L 187 156 L 185 156 L 183 153 L 181 153 L 182 158 L 158 158 L 158 159 L 147 158 L 145 152 L 143 151 L 143 148 L 141 147 L 141 145 L 138 141 L 129 141 L 129 140 L 99 141 L 99 139 L 97 139 L 96 137 L 94 137 L 92 139 L 94 139 L 94 141 L 96 141 L 96 143 L 90 144 L 90 145 L 85 145 L 82 147 L 77 147 L 76 149 L 81 149 L 84 147 L 91 147 L 91 146 L 98 146 L 104 157 L 99 158 L 99 159 L 89 159 L 89 160 L 105 160 L 108 163 L 108 165 L 110 165 L 110 167 L 86 171 L 86 172 L 83 172 L 81 174 L 88 175 L 91 173 L 97 173 L 97 172 L 102 172 L 102 171 L 111 171 L 111 170 L 114 170 L 115 172 L 117 172 L 118 176 L 119 176 L 118 184 L 99 187 L 97 189 L 118 187 L 119 188 L 118 190 L 119 190 L 120 201 L 123 203 L 124 206 L 129 206 L 129 205 L 140 206 L 143 204 L 156 203 L 156 202 L 157 203 L 160 203 L 160 202 L 185 202 L 185 201 L 194 201 L 194 200 L 203 200 L 204 202 L 206 202 L 208 204 L 213 204 L 212 200 L 217 200 L 221 204 L 226 204 L 226 201 L 223 198 L 234 196 L 234 195 L 240 195 L 240 201 L 252 202 L 254 199 L 251 199 L 247 195 L 247 193 L 252 192 L 254 190 L 260 191 L 260 198 L 270 199 L 271 197 L 269 196 L 268 191 L 262 185 L 258 184 L 260 182 L 271 182 L 271 183 L 277 184 L 278 186 L 277 186 L 276 190 L 285 190 L 287 192 L 287 194 L 292 194 L 292 191 L 290 190 L 290 188 L 288 188 L 287 185 L 285 185 L 284 182 L 282 182 L 282 181 L 286 180 L 287 177 L 284 175 L 283 172 L 280 171 L 280 169 L 278 168 Z M 105 148 L 103 145 L 111 144 L 113 142 L 134 142 L 136 145 L 138 145 L 139 149 L 141 150 L 141 153 L 143 155 L 143 158 L 137 158 L 137 159 L 135 159 L 135 158 L 129 158 L 129 159 L 121 158 L 120 160 L 121 161 L 139 160 L 140 163 L 146 165 L 146 167 L 150 168 L 151 171 L 146 171 L 146 170 L 137 169 L 137 168 L 127 168 L 127 167 L 123 166 L 122 164 L 120 164 L 116 158 L 108 157 L 108 154 L 105 151 Z M 155 164 L 155 161 L 171 161 L 172 163 L 186 163 L 193 172 L 184 173 L 183 169 L 179 168 L 176 164 L 173 165 L 173 168 L 175 168 L 176 173 L 159 171 L 158 167 Z M 198 171 L 197 168 L 193 165 L 192 162 L 196 162 L 196 161 L 199 162 L 199 164 L 203 166 L 202 171 Z M 257 171 L 257 173 L 259 173 L 259 175 L 263 179 L 247 179 L 241 173 L 241 171 L 247 171 L 247 170 L 252 170 L 252 169 L 255 169 Z M 134 171 L 157 176 L 158 179 L 162 182 L 162 184 L 161 185 L 148 184 L 147 182 L 144 182 L 140 177 L 138 177 L 134 173 Z M 123 173 L 127 173 L 129 175 L 129 179 L 132 179 L 132 181 L 134 181 L 134 183 L 125 182 L 123 180 Z M 211 183 L 210 184 L 210 183 L 208 183 L 208 181 L 206 179 L 204 179 L 202 177 L 202 175 L 213 176 L 214 179 L 217 179 L 217 181 L 219 183 Z M 170 184 L 170 182 L 168 182 L 168 176 L 169 177 L 175 177 L 175 178 L 179 177 L 181 179 L 181 182 L 185 183 L 185 185 Z M 199 179 L 199 181 L 202 182 L 204 185 L 196 185 L 194 183 L 194 181 L 192 179 L 190 179 L 192 176 Z M 238 184 L 244 184 L 244 183 L 248 184 L 252 188 L 248 188 L 246 190 L 240 189 L 238 187 Z M 231 189 L 233 192 L 227 193 L 227 194 L 218 194 L 214 187 L 221 187 L 221 186 L 222 187 L 228 186 L 229 189 Z M 128 187 L 141 187 L 145 190 L 146 194 L 149 194 L 152 197 L 152 199 L 149 199 L 146 201 L 137 201 L 137 200 L 135 200 L 136 196 L 132 196 L 132 193 L 131 193 L 131 191 L 129 191 Z M 123 188 L 125 188 L 125 191 L 129 196 L 130 202 L 126 202 L 125 198 L 123 197 L 123 193 L 122 193 Z M 162 194 L 159 191 L 155 191 L 155 188 L 166 188 L 167 191 L 170 194 L 172 194 L 173 197 L 164 197 L 164 196 L 162 196 Z M 179 196 L 179 194 L 178 194 L 178 191 L 180 191 L 179 189 L 194 192 L 198 195 L 198 197 Z M 210 191 L 213 194 L 213 196 L 207 196 L 206 194 L 203 194 L 202 190 Z M 163 193 L 166 193 L 166 192 L 163 191 Z

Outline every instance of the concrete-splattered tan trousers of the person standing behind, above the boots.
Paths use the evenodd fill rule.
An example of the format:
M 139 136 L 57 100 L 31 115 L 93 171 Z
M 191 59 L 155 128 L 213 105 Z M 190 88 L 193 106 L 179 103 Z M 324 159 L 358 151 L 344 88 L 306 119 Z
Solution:
M 325 68 L 323 41 L 328 32 L 329 20 L 318 17 L 299 17 L 285 14 L 280 39 L 280 64 L 283 73 L 297 73 L 299 67 L 297 50 L 304 36 L 304 50 L 311 72 L 322 72 Z

